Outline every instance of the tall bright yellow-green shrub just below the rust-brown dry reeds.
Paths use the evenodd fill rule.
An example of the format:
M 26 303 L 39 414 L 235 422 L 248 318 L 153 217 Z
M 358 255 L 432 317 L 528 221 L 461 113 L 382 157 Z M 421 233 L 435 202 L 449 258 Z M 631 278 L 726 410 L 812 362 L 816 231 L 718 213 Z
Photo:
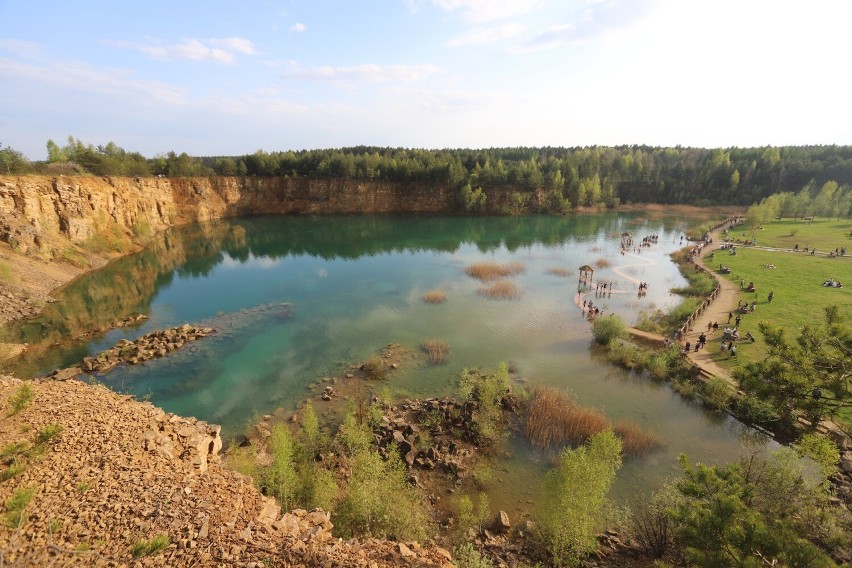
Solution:
M 621 467 L 621 442 L 605 430 L 577 449 L 562 451 L 545 482 L 544 505 L 536 535 L 541 552 L 556 566 L 576 566 L 597 550 L 609 491 Z

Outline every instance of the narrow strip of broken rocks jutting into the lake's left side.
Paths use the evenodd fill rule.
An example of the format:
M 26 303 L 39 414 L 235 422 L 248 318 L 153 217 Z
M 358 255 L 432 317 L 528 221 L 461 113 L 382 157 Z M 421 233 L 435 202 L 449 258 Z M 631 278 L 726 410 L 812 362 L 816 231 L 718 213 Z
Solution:
M 96 357 L 84 357 L 80 368 L 85 373 L 106 373 L 123 363 L 138 365 L 151 359 L 165 357 L 187 343 L 206 337 L 215 331 L 211 327 L 183 324 L 179 327 L 148 333 L 136 341 L 122 339 L 114 347 Z

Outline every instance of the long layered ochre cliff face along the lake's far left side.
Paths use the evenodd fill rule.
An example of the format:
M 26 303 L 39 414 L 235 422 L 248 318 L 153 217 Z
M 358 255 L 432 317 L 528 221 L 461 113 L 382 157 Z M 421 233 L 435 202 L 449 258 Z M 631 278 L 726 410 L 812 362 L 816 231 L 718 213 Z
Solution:
M 176 223 L 256 214 L 448 213 L 453 195 L 428 183 L 305 178 L 0 176 L 0 241 L 55 253 L 98 235 L 159 232 Z

